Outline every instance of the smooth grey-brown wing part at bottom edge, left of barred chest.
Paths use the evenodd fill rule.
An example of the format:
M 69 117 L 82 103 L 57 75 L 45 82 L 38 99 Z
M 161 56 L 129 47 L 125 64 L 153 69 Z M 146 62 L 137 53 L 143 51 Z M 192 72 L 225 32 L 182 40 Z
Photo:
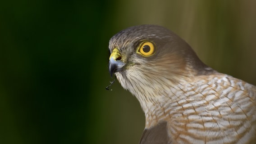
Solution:
M 167 122 L 161 122 L 157 126 L 145 129 L 140 144 L 170 144 Z

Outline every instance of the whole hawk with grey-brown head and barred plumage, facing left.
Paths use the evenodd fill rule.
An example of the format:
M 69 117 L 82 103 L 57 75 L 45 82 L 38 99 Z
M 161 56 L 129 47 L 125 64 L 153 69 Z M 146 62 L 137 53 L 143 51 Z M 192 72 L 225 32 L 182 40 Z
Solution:
M 256 144 L 256 86 L 215 71 L 174 32 L 129 27 L 109 43 L 109 72 L 140 102 L 140 144 Z

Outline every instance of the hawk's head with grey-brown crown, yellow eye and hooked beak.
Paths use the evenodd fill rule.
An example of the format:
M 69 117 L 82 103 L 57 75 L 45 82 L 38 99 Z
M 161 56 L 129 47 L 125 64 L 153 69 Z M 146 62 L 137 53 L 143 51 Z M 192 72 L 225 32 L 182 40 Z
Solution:
M 207 67 L 184 40 L 156 25 L 120 31 L 110 39 L 109 49 L 110 75 L 141 104 Z

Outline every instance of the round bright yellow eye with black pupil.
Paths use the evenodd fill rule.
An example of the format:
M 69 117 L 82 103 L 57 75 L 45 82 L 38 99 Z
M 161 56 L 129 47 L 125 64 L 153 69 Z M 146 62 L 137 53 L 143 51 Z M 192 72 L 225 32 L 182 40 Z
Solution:
M 145 56 L 155 54 L 155 45 L 150 41 L 144 42 L 140 45 L 138 52 Z

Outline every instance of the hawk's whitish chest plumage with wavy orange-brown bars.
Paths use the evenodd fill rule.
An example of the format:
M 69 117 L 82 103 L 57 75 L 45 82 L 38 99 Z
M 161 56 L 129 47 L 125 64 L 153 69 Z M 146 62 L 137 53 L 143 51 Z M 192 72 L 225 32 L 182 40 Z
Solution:
M 256 88 L 232 76 L 198 76 L 159 104 L 145 112 L 146 127 L 167 121 L 174 144 L 245 144 L 256 135 Z

